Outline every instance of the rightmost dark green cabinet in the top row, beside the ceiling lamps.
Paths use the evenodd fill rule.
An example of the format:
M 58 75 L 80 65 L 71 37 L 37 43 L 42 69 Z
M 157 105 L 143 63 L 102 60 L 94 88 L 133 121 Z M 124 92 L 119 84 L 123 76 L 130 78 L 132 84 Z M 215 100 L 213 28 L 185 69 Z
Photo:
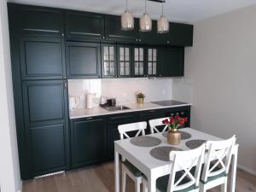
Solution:
M 181 23 L 170 23 L 170 31 L 167 33 L 167 44 L 176 46 L 193 45 L 193 26 Z

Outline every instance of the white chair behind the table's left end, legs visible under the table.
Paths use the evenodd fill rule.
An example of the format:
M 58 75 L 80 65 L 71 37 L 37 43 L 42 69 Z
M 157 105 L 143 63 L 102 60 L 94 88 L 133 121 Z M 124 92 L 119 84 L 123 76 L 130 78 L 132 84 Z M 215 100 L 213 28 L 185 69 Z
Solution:
M 118 129 L 119 129 L 120 139 L 125 139 L 125 137 L 130 138 L 128 134 L 131 131 L 137 131 L 137 134 L 135 137 L 138 137 L 139 135 L 144 136 L 146 128 L 147 128 L 147 122 L 138 122 L 138 123 L 119 125 Z M 123 160 L 123 163 L 122 163 L 123 189 L 122 189 L 122 191 L 125 192 L 126 175 L 128 175 L 135 182 L 136 192 L 140 192 L 140 186 L 141 186 L 141 183 L 143 183 L 143 173 L 140 172 L 137 169 L 137 167 L 133 166 L 128 160 L 125 160 L 124 158 L 122 160 Z

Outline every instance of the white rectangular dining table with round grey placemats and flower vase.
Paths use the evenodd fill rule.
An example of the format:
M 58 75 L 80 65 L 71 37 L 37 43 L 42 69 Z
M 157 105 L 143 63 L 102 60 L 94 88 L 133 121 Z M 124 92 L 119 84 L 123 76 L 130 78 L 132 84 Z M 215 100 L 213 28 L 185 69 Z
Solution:
M 196 131 L 192 128 L 183 128 L 182 131 L 188 132 L 192 137 L 189 139 L 181 140 L 178 145 L 170 145 L 167 143 L 166 137 L 160 133 L 154 133 L 148 136 L 157 137 L 161 140 L 161 143 L 154 147 L 138 147 L 130 142 L 131 138 L 118 140 L 114 142 L 114 168 L 115 168 L 115 192 L 120 190 L 120 178 L 119 178 L 119 154 L 122 158 L 129 160 L 132 165 L 136 166 L 143 174 L 148 178 L 148 192 L 156 191 L 156 180 L 159 177 L 170 174 L 172 161 L 157 160 L 150 154 L 150 150 L 156 147 L 171 146 L 180 148 L 182 150 L 189 150 L 186 146 L 186 142 L 194 139 L 223 140 L 219 137 L 214 137 L 210 134 L 202 131 Z M 230 179 L 230 192 L 235 192 L 236 187 L 236 165 L 237 165 L 237 152 L 238 144 L 232 151 L 232 167 L 231 167 L 231 179 Z

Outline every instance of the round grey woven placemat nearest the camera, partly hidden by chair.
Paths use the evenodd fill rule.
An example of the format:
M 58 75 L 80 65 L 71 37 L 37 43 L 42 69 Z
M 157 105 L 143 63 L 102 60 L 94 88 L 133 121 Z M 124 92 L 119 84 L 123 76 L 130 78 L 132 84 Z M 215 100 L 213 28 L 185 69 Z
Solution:
M 174 148 L 169 146 L 152 148 L 150 155 L 157 160 L 170 161 L 170 151 L 182 151 L 181 148 Z

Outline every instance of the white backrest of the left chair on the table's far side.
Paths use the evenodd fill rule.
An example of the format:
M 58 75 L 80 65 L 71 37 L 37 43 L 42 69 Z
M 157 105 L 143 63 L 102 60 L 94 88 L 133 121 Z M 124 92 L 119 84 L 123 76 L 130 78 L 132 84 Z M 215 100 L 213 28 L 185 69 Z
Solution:
M 127 132 L 130 132 L 130 131 L 137 131 L 137 134 L 135 137 L 138 137 L 140 134 L 144 136 L 146 128 L 147 128 L 147 122 L 145 121 L 119 125 L 118 129 L 119 129 L 120 139 L 124 139 L 125 137 L 130 138 L 130 136 L 127 134 Z

